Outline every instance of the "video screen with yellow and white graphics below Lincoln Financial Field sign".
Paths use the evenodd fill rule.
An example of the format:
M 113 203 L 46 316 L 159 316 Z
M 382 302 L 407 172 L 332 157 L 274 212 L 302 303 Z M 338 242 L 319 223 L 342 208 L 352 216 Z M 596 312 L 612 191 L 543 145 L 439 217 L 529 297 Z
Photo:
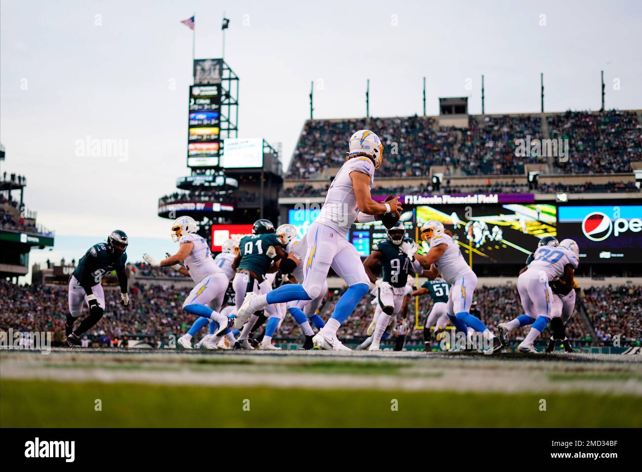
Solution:
M 544 236 L 557 236 L 557 210 L 548 204 L 419 206 L 417 225 L 437 220 L 453 232 L 473 263 L 523 263 Z

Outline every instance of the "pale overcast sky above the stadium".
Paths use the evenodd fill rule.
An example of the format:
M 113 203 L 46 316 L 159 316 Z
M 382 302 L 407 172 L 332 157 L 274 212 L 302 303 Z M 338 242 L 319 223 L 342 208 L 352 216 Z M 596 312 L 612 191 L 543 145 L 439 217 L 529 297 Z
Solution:
M 642 108 L 639 1 L 2 0 L 0 172 L 26 175 L 56 252 L 78 258 L 80 236 L 116 228 L 167 238 L 157 199 L 189 174 L 192 33 L 180 21 L 196 15 L 196 58 L 220 57 L 223 12 L 239 136 L 282 143 L 284 164 L 311 81 L 315 118 L 365 116 L 367 79 L 371 116 L 421 114 L 424 76 L 427 114 L 440 96 L 480 113 L 482 74 L 487 113 L 538 112 L 540 73 L 546 111 L 596 110 L 601 70 L 608 108 Z M 82 155 L 88 136 L 121 140 L 126 157 Z

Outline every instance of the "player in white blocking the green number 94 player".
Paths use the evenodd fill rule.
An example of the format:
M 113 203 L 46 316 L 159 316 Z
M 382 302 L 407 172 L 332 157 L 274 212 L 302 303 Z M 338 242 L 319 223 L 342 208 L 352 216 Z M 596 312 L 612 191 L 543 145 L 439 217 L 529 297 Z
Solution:
M 473 328 L 482 333 L 483 338 L 490 343 L 486 353 L 494 353 L 501 349 L 498 338 L 486 328 L 482 320 L 469 313 L 473 303 L 473 293 L 477 286 L 477 276 L 467 265 L 453 238 L 444 232 L 444 225 L 436 220 L 430 220 L 421 227 L 421 238 L 428 242 L 429 250 L 425 256 L 417 256 L 424 267 L 428 279 L 435 279 L 439 274 L 451 285 L 448 292 L 448 317 L 457 329 L 467 336 L 467 328 Z

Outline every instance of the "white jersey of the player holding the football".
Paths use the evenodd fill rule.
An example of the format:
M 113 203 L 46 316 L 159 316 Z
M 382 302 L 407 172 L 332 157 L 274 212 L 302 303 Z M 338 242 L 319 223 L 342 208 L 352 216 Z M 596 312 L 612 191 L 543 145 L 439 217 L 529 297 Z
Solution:
M 330 227 L 338 232 L 343 238 L 348 234 L 352 223 L 357 218 L 357 199 L 354 196 L 350 174 L 353 171 L 365 173 L 370 177 L 370 188 L 374 182 L 374 163 L 369 157 L 353 157 L 343 164 L 336 173 L 330 188 L 325 195 L 325 202 L 317 223 Z

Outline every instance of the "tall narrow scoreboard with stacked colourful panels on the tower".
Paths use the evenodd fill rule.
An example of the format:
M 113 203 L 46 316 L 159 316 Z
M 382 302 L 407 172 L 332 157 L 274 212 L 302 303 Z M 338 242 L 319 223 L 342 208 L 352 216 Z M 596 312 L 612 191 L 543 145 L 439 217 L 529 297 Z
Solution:
M 187 167 L 220 165 L 221 85 L 189 87 Z

